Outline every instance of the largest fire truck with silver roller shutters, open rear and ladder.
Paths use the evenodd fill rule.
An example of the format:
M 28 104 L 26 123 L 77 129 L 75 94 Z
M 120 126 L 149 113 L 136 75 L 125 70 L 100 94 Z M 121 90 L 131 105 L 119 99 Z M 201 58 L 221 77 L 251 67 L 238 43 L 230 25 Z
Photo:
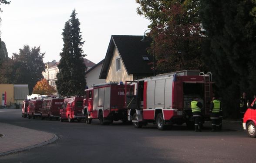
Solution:
M 172 124 L 193 125 L 190 102 L 199 97 L 203 104 L 202 115 L 209 119 L 209 104 L 212 99 L 212 74 L 185 70 L 147 77 L 138 81 L 126 81 L 125 107 L 128 120 L 136 128 L 147 123 L 156 123 L 159 130 Z M 131 85 L 135 85 L 135 90 Z M 128 91 L 128 92 L 127 92 Z

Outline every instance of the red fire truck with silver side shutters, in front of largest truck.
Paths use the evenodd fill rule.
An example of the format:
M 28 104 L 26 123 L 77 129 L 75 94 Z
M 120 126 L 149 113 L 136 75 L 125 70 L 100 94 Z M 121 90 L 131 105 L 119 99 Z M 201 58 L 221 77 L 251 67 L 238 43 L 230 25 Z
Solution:
M 125 85 L 117 82 L 94 85 L 85 90 L 83 112 L 86 123 L 99 119 L 101 124 L 110 124 L 114 120 L 128 122 L 125 109 Z

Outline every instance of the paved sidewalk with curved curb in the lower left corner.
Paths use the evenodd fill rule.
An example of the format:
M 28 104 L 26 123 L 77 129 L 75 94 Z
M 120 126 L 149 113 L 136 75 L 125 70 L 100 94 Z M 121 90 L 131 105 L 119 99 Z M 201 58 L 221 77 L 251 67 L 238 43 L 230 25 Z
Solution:
M 3 135 L 0 137 L 0 156 L 43 146 L 58 139 L 53 133 L 7 123 L 0 123 L 0 134 Z

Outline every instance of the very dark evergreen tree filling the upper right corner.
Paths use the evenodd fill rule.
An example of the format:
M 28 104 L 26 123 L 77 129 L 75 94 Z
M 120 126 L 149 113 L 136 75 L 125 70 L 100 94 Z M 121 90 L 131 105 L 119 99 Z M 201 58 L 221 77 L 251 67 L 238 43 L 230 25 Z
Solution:
M 207 36 L 205 62 L 232 113 L 239 93 L 256 93 L 256 2 L 201 0 L 200 18 Z

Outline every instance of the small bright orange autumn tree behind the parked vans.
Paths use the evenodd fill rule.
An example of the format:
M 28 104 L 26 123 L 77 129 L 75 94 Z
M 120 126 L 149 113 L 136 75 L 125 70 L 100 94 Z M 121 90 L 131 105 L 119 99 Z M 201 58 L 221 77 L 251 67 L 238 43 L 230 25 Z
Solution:
M 49 84 L 46 79 L 42 79 L 37 82 L 37 84 L 33 88 L 33 93 L 41 94 L 41 95 L 53 95 L 56 93 L 56 90 L 53 86 Z

